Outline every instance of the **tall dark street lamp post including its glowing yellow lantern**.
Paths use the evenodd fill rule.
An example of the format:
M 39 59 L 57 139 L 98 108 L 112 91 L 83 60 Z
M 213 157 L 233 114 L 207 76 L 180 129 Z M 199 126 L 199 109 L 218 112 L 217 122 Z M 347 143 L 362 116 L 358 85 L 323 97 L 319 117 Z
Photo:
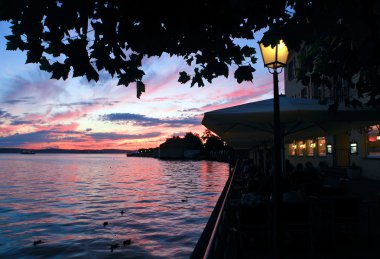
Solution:
M 280 179 L 282 175 L 281 161 L 281 124 L 280 124 L 280 100 L 278 95 L 278 74 L 282 72 L 286 66 L 288 59 L 288 48 L 285 43 L 280 40 L 273 48 L 269 45 L 264 46 L 260 43 L 261 55 L 263 57 L 264 66 L 273 74 L 273 152 L 274 152 L 274 171 L 273 171 L 273 251 L 274 257 L 282 257 L 281 238 L 281 202 L 282 193 L 280 187 Z

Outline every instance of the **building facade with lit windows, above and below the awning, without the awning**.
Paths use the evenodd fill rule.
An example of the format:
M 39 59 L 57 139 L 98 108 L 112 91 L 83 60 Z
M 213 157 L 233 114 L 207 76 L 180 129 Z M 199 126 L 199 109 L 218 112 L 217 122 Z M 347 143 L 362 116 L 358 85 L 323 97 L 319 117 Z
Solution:
M 302 84 L 296 77 L 298 64 L 297 53 L 290 52 L 284 75 L 287 97 L 319 100 L 326 103 L 326 109 L 335 101 L 340 104 L 340 109 L 345 107 L 345 100 L 357 97 L 355 88 L 350 88 L 344 80 L 339 82 L 339 87 L 334 83 L 329 87 L 326 84 Z M 356 80 L 354 77 L 351 83 L 355 84 Z M 380 180 L 380 114 L 372 123 L 361 127 L 347 125 L 339 134 L 306 137 L 306 133 L 307 130 L 305 137 L 285 141 L 285 158 L 293 164 L 310 161 L 318 166 L 326 163 L 331 168 L 346 170 L 352 178 Z M 358 173 L 353 173 L 353 170 Z

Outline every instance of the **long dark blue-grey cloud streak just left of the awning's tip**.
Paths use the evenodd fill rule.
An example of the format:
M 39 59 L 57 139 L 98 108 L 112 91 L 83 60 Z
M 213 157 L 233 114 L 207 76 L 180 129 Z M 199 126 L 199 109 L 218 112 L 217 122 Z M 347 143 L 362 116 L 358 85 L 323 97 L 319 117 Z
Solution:
M 185 118 L 175 118 L 175 119 L 158 119 L 152 117 L 146 117 L 141 114 L 133 114 L 133 113 L 111 113 L 101 116 L 101 120 L 103 121 L 111 121 L 117 123 L 128 123 L 132 122 L 138 126 L 158 126 L 158 125 L 166 125 L 170 127 L 178 127 L 182 125 L 199 125 L 200 119 L 195 117 L 185 117 Z

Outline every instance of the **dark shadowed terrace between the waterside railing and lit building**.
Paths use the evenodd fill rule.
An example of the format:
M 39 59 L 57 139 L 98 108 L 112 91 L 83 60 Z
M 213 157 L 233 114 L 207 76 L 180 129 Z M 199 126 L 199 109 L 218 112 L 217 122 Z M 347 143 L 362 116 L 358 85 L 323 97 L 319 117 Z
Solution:
M 322 179 L 318 195 L 284 202 L 283 258 L 380 258 L 380 181 L 333 171 Z M 237 172 L 208 258 L 273 258 L 271 200 L 242 204 L 244 193 L 247 179 Z

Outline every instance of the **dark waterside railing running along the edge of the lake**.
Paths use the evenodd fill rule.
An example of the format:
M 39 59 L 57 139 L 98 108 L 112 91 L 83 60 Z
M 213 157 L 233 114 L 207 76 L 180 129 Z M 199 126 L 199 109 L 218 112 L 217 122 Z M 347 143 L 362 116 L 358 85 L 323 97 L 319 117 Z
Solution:
M 234 169 L 232 170 L 232 173 L 230 173 L 230 176 L 226 182 L 226 185 L 223 188 L 223 191 L 216 203 L 216 206 L 211 213 L 211 216 L 209 218 L 209 221 L 206 224 L 205 229 L 203 230 L 203 233 L 201 237 L 198 240 L 197 245 L 194 248 L 194 251 L 190 258 L 212 258 L 214 256 L 215 252 L 215 244 L 218 242 L 218 231 L 220 232 L 221 224 L 222 224 L 222 218 L 223 213 L 225 211 L 227 198 L 229 196 L 229 193 L 231 191 L 232 183 L 235 179 L 236 170 L 238 167 L 239 161 L 236 162 Z M 207 246 L 206 246 L 207 245 Z

